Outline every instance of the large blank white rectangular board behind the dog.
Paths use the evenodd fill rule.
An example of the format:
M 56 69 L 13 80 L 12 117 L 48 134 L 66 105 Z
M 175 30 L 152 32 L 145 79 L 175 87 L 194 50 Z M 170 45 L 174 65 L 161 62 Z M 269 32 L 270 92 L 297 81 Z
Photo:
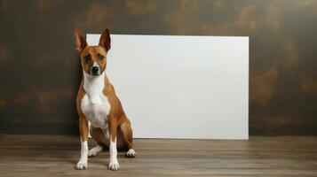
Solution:
M 111 35 L 106 71 L 134 137 L 248 139 L 249 37 Z

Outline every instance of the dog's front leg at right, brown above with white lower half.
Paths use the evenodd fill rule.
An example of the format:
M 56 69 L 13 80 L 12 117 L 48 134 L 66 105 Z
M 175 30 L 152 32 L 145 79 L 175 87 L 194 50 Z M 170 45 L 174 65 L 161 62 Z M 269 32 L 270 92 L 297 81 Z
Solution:
M 110 170 L 119 170 L 120 165 L 118 163 L 117 150 L 116 150 L 116 131 L 117 131 L 117 121 L 114 117 L 108 117 L 109 124 L 109 132 L 110 132 L 110 145 L 109 145 L 109 153 L 110 153 L 110 162 L 109 169 Z

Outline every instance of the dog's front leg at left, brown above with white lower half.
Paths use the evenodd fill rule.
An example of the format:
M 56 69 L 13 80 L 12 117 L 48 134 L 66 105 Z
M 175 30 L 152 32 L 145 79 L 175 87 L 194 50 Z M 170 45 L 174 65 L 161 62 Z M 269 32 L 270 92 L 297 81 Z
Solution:
M 87 165 L 87 159 L 88 159 L 88 121 L 85 119 L 84 116 L 79 117 L 79 130 L 80 130 L 80 136 L 81 136 L 81 143 L 82 143 L 82 149 L 81 149 L 81 156 L 80 159 L 75 165 L 75 168 L 78 170 L 86 169 L 88 167 Z

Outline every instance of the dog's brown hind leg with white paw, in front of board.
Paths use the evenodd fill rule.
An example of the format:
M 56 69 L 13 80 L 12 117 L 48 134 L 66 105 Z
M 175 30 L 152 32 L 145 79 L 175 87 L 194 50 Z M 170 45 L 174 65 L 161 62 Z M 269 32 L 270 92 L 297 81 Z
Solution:
M 121 124 L 120 129 L 123 133 L 123 141 L 128 147 L 126 156 L 128 158 L 134 158 L 136 156 L 136 152 L 133 150 L 133 134 L 129 119 L 126 119 L 126 121 L 124 121 L 123 124 Z

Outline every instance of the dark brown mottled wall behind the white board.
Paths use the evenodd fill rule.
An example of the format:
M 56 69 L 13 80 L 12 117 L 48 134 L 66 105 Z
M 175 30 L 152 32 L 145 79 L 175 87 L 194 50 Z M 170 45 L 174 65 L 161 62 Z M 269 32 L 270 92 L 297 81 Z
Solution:
M 315 0 L 2 0 L 0 22 L 0 133 L 77 134 L 73 29 L 109 27 L 250 35 L 250 135 L 317 135 Z

